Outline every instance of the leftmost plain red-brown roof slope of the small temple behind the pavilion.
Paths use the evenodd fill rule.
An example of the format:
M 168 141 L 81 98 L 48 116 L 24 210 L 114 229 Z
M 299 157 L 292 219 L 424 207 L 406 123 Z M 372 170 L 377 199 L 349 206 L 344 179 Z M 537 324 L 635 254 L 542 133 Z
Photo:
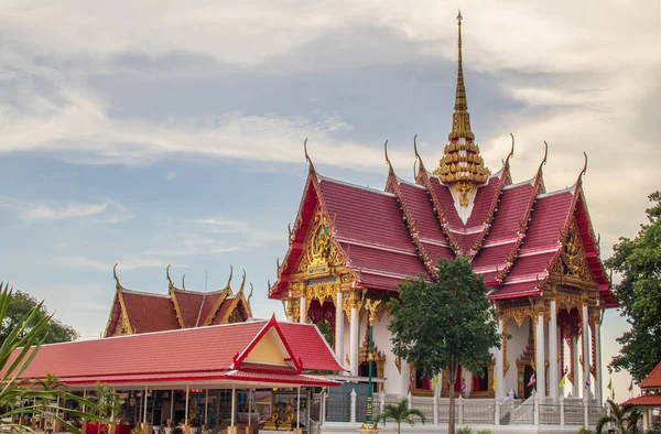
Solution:
M 167 295 L 147 294 L 121 289 L 133 333 L 180 328 L 172 300 Z

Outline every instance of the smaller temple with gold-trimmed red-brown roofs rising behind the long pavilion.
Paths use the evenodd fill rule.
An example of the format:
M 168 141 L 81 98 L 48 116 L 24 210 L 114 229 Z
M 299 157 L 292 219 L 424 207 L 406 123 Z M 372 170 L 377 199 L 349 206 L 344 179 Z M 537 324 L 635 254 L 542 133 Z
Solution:
M 167 294 L 127 290 L 119 283 L 117 264 L 113 274 L 117 291 L 104 337 L 243 323 L 252 317 L 252 284 L 246 299 L 245 272 L 236 294 L 231 289 L 234 270 L 223 290 L 197 292 L 186 290 L 185 275 L 182 278 L 182 287 L 176 287 L 167 265 Z

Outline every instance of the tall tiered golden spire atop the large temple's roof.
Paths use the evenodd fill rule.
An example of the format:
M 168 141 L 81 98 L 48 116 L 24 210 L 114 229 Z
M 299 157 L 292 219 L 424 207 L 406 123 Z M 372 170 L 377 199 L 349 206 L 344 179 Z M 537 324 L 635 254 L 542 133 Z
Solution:
M 455 108 L 452 116 L 452 131 L 447 135 L 448 143 L 443 150 L 443 158 L 434 171 L 445 184 L 455 184 L 459 193 L 459 205 L 467 207 L 469 193 L 476 185 L 484 184 L 491 174 L 479 154 L 479 147 L 474 142 L 475 134 L 470 129 L 464 67 L 462 58 L 462 11 L 457 15 L 458 65 Z

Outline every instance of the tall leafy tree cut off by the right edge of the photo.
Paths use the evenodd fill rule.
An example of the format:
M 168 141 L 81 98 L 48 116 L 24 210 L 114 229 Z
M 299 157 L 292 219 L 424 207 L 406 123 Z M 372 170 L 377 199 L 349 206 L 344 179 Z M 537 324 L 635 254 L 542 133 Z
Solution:
M 606 267 L 620 273 L 614 293 L 631 325 L 617 341 L 620 354 L 609 369 L 627 370 L 641 382 L 661 361 L 661 193 L 649 196 L 649 223 L 635 239 L 620 238 Z

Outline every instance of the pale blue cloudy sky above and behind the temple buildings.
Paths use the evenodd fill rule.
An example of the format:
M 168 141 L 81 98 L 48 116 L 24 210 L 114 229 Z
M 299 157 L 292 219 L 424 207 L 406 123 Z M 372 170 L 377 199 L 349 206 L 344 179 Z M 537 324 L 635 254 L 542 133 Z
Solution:
M 608 257 L 659 188 L 661 8 L 485 1 L 1 0 L 0 279 L 98 336 L 126 287 L 254 284 L 257 315 L 286 250 L 307 166 L 382 187 L 412 139 L 432 166 L 451 127 L 456 10 L 473 129 L 514 181 L 550 144 L 549 189 L 585 189 Z M 237 273 L 235 274 L 237 275 Z M 236 281 L 238 285 L 238 280 Z M 604 326 L 604 360 L 625 328 Z M 616 377 L 616 387 L 628 380 Z M 624 392 L 624 389 L 622 389 Z

